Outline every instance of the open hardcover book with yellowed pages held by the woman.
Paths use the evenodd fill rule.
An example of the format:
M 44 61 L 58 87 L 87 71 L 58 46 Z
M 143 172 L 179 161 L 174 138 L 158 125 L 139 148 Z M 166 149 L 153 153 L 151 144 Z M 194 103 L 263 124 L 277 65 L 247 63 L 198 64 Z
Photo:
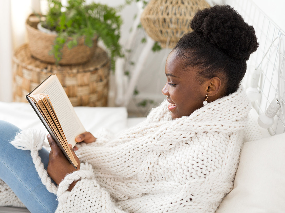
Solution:
M 51 137 L 76 168 L 77 162 L 68 144 L 74 147 L 76 136 L 86 130 L 56 75 L 50 75 L 46 78 L 26 98 Z

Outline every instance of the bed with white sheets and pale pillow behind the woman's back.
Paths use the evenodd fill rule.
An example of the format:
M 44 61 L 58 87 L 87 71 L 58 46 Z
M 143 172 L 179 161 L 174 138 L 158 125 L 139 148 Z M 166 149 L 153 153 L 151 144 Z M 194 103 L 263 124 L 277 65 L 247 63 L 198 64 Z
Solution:
M 107 128 L 114 134 L 134 126 L 145 118 L 128 118 L 125 107 L 75 107 L 87 131 Z M 285 133 L 270 136 L 257 124 L 252 109 L 245 131 L 245 145 L 235 178 L 234 189 L 223 200 L 216 213 L 284 212 L 285 209 Z M 45 130 L 28 103 L 0 102 L 0 119 L 21 129 Z M 25 208 L 0 207 L 0 213 L 29 212 Z

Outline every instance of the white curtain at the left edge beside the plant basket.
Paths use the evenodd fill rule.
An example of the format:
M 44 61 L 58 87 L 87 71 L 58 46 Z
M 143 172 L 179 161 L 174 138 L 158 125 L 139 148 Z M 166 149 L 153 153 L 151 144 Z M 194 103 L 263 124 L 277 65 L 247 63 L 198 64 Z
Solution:
M 13 101 L 12 57 L 17 47 L 27 42 L 25 21 L 39 11 L 39 0 L 1 0 L 0 7 L 0 101 Z

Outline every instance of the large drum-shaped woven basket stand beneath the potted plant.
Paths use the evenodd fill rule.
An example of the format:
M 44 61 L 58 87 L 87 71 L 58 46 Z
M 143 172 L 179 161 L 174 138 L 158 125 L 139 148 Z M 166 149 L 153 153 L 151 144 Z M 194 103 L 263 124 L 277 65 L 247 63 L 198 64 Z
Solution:
M 109 70 L 109 57 L 99 47 L 85 64 L 56 66 L 31 57 L 25 44 L 16 49 L 13 57 L 13 98 L 27 102 L 25 96 L 30 91 L 50 74 L 56 74 L 73 106 L 107 106 Z

